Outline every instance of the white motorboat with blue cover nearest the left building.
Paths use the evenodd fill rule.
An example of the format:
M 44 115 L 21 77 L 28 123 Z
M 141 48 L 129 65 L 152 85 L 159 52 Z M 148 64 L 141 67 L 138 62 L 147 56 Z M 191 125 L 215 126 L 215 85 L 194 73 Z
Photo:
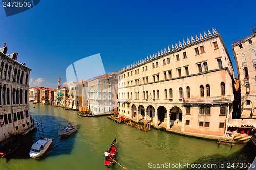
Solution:
M 32 145 L 29 156 L 34 159 L 39 158 L 46 152 L 51 143 L 52 139 L 41 138 Z

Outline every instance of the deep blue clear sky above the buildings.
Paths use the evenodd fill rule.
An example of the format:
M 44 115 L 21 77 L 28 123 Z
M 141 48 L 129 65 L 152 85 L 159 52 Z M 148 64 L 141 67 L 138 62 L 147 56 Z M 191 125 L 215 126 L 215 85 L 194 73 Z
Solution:
M 41 1 L 6 17 L 0 7 L 0 45 L 31 68 L 32 84 L 57 88 L 66 68 L 100 53 L 106 72 L 175 42 L 216 28 L 235 67 L 231 40 L 251 34 L 256 1 Z

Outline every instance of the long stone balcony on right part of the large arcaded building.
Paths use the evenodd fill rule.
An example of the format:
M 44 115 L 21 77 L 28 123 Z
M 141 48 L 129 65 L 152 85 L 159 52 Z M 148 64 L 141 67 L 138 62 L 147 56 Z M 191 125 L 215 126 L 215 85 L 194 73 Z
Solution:
M 232 103 L 233 100 L 234 100 L 234 96 L 228 95 L 228 96 L 209 97 L 209 98 L 185 99 L 184 103 L 188 103 L 188 104 Z

